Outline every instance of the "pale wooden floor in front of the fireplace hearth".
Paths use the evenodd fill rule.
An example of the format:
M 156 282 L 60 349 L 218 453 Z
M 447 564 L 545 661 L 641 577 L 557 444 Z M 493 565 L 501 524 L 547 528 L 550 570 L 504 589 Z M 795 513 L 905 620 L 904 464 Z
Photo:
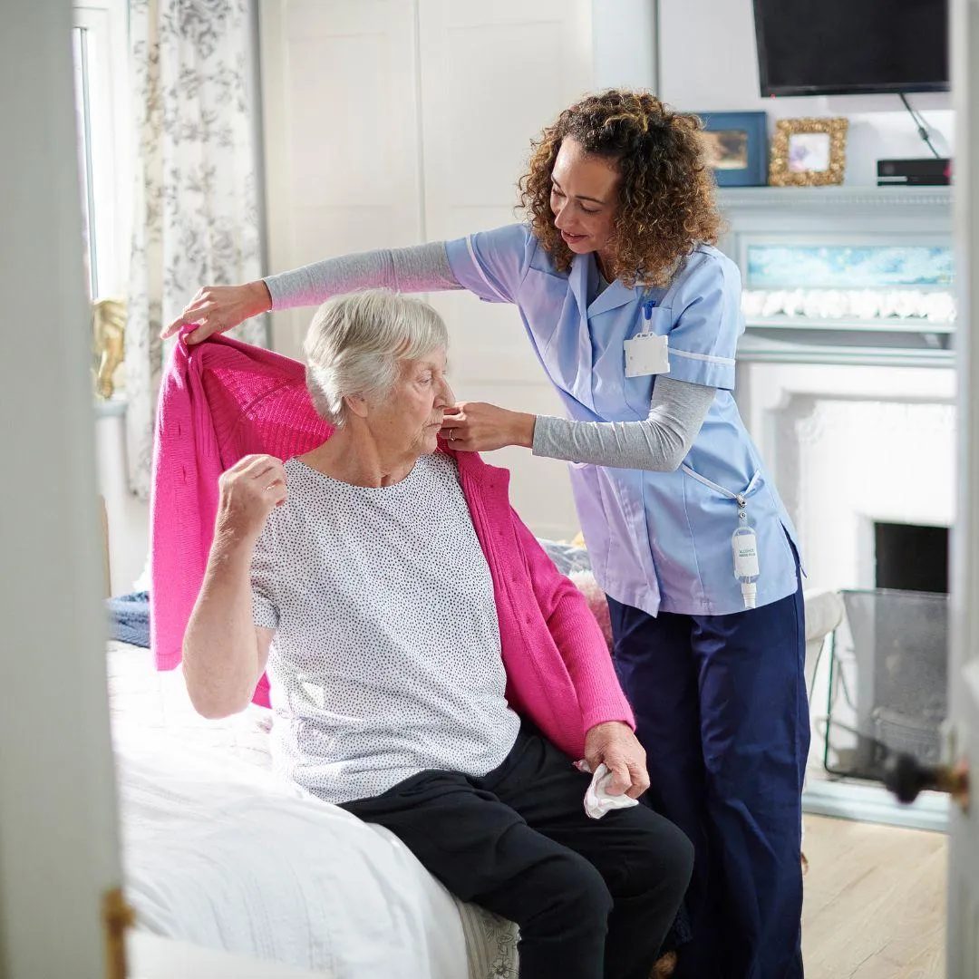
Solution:
M 806 979 L 945 979 L 942 833 L 806 816 Z

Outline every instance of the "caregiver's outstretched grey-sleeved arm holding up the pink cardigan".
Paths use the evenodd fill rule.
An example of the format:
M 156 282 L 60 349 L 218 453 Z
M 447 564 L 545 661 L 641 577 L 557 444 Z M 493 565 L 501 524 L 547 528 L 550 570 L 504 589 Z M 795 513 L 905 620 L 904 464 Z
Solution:
M 326 258 L 311 265 L 241 286 L 205 286 L 161 334 L 172 336 L 197 323 L 191 344 L 223 333 L 269 309 L 318 305 L 331 296 L 360 289 L 393 289 L 400 293 L 461 289 L 445 255 L 443 242 Z

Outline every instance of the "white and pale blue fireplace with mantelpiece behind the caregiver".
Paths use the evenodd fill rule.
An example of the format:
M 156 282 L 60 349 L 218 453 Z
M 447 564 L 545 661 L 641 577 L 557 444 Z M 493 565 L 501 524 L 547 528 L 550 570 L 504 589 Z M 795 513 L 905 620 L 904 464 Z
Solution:
M 827 293 L 820 303 L 806 290 L 822 288 L 814 275 L 842 269 L 853 278 L 846 245 L 868 246 L 861 274 L 895 267 L 873 248 L 925 247 L 903 254 L 901 274 L 910 282 L 926 273 L 937 282 L 951 247 L 951 196 L 761 189 L 722 199 L 730 224 L 723 250 L 738 261 L 749 293 L 768 290 L 764 303 L 749 297 L 759 308 L 745 310 L 735 396 L 796 525 L 804 587 L 841 593 L 853 620 L 835 637 L 836 675 L 829 676 L 836 656 L 824 655 L 816 672 L 807 808 L 938 828 L 946 818 L 939 802 L 920 803 L 910 813 L 867 782 L 826 782 L 823 749 L 825 716 L 834 704 L 835 720 L 862 732 L 836 739 L 832 761 L 840 771 L 872 776 L 875 740 L 924 760 L 940 751 L 955 506 L 954 322 L 943 323 L 939 334 L 928 329 L 938 314 L 884 316 L 878 308 L 870 319 L 858 308 L 864 297 L 856 282 L 848 294 Z M 811 246 L 828 251 L 814 257 Z M 808 267 L 793 289 L 797 255 Z M 867 308 L 879 298 L 866 298 Z M 915 302 L 925 299 L 940 305 L 947 296 L 922 294 Z M 844 301 L 849 305 L 840 312 Z M 897 301 L 889 296 L 887 302 Z M 948 319 L 947 308 L 941 316 Z

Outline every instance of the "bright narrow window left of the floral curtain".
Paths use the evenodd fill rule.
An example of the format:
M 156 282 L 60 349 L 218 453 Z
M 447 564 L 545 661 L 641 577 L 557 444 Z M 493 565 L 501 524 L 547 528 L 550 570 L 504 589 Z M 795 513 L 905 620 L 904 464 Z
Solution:
M 130 179 L 125 11 L 122 0 L 74 8 L 78 166 L 89 298 L 124 294 Z

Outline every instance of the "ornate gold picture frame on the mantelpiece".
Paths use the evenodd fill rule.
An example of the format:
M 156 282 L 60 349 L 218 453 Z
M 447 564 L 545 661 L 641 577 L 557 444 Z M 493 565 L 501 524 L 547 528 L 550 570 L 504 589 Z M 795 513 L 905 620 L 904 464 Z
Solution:
M 771 140 L 772 187 L 822 187 L 843 183 L 849 120 L 778 119 Z

